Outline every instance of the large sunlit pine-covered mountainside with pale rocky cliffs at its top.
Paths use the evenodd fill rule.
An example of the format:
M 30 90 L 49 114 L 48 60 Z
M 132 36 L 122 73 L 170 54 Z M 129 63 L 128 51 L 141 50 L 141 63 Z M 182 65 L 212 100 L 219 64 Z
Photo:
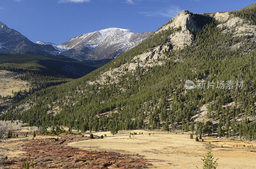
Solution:
M 182 11 L 138 46 L 84 77 L 35 92 L 1 120 L 44 129 L 181 129 L 255 139 L 255 8 Z M 188 79 L 234 86 L 185 90 Z

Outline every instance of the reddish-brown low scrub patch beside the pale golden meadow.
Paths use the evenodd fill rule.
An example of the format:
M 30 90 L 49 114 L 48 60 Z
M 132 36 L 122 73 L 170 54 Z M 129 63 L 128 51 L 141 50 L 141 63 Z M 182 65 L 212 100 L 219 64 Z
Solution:
M 86 151 L 67 146 L 80 138 L 38 139 L 20 145 L 21 157 L 9 159 L 9 167 L 22 168 L 147 168 L 151 164 L 140 156 L 113 151 Z

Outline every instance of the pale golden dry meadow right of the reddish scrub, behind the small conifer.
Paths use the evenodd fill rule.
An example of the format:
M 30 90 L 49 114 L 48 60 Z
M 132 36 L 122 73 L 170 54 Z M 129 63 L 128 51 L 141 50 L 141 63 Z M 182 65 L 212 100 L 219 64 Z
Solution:
M 137 135 L 131 136 L 131 138 L 129 138 L 130 132 L 133 131 L 120 131 L 114 136 L 110 132 L 96 132 L 93 134 L 97 136 L 107 134 L 107 137 L 73 142 L 69 143 L 69 146 L 85 150 L 138 153 L 149 159 L 156 168 L 196 168 L 196 165 L 202 168 L 201 158 L 206 154 L 205 146 L 210 141 L 214 147 L 212 148 L 213 157 L 219 158 L 218 168 L 244 169 L 256 166 L 256 143 L 217 140 L 207 137 L 204 138 L 204 142 L 196 142 L 186 134 L 134 131 L 137 132 Z M 139 132 L 143 132 L 143 135 L 138 135 Z M 151 135 L 149 136 L 148 133 Z M 251 147 L 247 147 L 250 145 Z M 159 160 L 164 162 L 159 162 Z

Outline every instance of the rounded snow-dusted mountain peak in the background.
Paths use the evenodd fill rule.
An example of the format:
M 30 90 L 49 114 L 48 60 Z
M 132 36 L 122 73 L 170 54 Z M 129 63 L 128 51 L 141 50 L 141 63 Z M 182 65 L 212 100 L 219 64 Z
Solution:
M 60 55 L 74 58 L 79 61 L 114 59 L 121 53 L 138 45 L 153 32 L 132 33 L 128 29 L 107 28 L 93 33 L 86 33 L 71 40 L 55 45 L 42 41 L 35 42 L 41 47 L 53 46 Z M 46 49 L 45 51 L 50 51 Z M 52 53 L 58 55 L 57 53 Z

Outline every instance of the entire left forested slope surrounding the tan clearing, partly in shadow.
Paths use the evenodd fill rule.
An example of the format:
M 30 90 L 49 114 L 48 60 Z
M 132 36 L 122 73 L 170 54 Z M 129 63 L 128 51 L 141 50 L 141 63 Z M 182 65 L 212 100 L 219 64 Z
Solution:
M 12 92 L 12 94 L 6 98 L 2 97 L 3 93 L 0 93 L 0 101 L 3 100 L 0 104 L 0 113 L 6 110 L 8 106 L 16 104 L 21 99 L 26 98 L 37 90 L 70 82 L 74 78 L 84 76 L 95 69 L 96 67 L 80 62 L 52 59 L 51 57 L 41 55 L 0 54 L 0 70 L 12 71 L 6 72 L 6 74 L 16 74 L 12 77 L 17 79 L 16 82 L 23 80 L 31 86 L 27 91 L 20 88 L 21 90 L 18 93 Z M 9 79 L 1 77 L 1 81 L 3 79 L 7 84 L 12 82 L 12 80 L 10 80 L 10 82 Z M 14 86 L 18 85 L 16 82 Z M 6 89 L 6 86 L 3 86 L 3 88 Z

